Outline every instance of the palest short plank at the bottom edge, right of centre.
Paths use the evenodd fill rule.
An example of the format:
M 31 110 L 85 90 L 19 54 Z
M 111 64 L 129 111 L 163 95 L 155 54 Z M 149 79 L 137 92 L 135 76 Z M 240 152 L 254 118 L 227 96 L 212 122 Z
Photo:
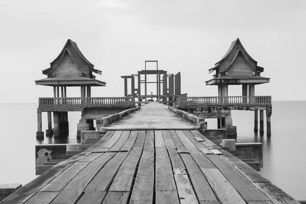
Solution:
M 174 175 L 174 179 L 181 204 L 198 203 L 188 175 Z

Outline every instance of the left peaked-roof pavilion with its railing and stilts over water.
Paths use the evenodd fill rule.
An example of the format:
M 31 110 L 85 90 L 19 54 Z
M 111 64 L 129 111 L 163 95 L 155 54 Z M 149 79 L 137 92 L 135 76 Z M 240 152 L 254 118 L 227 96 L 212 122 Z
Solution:
M 42 112 L 47 112 L 48 129 L 46 136 L 60 137 L 67 135 L 68 112 L 82 112 L 78 124 L 78 134 L 82 130 L 94 130 L 93 120 L 126 108 L 134 107 L 133 98 L 129 97 L 91 97 L 91 87 L 106 86 L 105 82 L 96 80 L 95 75 L 101 71 L 94 68 L 81 53 L 77 43 L 68 39 L 59 56 L 42 71 L 47 78 L 35 81 L 36 85 L 53 87 L 53 97 L 39 98 L 37 109 L 37 138 L 43 138 Z M 80 87 L 79 97 L 67 97 L 67 87 Z M 53 123 L 52 127 L 52 113 Z

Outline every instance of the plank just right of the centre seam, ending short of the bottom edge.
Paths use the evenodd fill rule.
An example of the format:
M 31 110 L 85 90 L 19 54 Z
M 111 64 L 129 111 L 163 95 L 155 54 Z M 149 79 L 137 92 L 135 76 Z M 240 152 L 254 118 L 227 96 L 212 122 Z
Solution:
M 166 147 L 156 147 L 155 191 L 176 191 Z

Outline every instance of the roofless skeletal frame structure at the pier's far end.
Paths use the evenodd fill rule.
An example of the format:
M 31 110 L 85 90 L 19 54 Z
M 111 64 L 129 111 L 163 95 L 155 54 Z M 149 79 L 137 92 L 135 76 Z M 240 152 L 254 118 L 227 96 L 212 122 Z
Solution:
M 156 63 L 156 70 L 147 69 L 147 63 Z M 156 81 L 147 81 L 147 75 L 156 75 Z M 138 74 L 121 76 L 124 79 L 124 96 L 133 96 L 138 98 L 140 104 L 148 100 L 157 100 L 161 103 L 169 104 L 175 103 L 176 98 L 181 95 L 181 72 L 177 74 L 167 73 L 165 70 L 158 69 L 158 61 L 145 61 L 144 70 L 138 71 Z M 137 78 L 137 88 L 135 88 L 135 78 Z M 127 82 L 131 79 L 131 92 L 128 94 Z M 144 84 L 144 91 L 141 85 Z M 156 84 L 156 90 L 151 93 L 147 92 L 148 84 Z M 153 99 L 154 98 L 154 99 Z

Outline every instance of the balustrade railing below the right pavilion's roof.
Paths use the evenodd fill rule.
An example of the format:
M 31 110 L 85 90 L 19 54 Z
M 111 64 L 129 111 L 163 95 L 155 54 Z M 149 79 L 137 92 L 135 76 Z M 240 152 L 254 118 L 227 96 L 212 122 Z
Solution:
M 206 97 L 178 97 L 178 106 L 205 105 L 271 105 L 271 96 L 206 96 Z

